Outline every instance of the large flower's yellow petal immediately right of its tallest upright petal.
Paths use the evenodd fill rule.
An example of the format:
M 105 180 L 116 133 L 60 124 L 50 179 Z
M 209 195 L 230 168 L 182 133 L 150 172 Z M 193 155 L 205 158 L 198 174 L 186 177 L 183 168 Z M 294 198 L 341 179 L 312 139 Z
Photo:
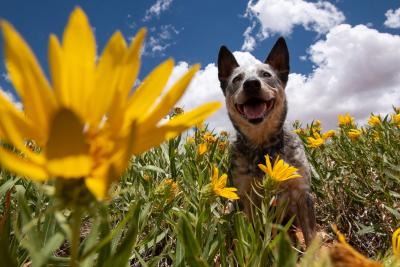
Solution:
M 92 124 L 97 124 L 108 112 L 118 87 L 126 43 L 120 32 L 114 33 L 104 48 L 96 68 L 96 89 L 89 98 Z

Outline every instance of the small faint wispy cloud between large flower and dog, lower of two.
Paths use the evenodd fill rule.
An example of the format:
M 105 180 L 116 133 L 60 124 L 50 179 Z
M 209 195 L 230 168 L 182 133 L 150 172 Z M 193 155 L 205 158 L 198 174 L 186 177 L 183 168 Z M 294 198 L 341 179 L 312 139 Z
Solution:
M 145 43 L 144 54 L 164 56 L 164 51 L 175 44 L 175 37 L 179 31 L 172 25 L 161 25 L 159 28 L 150 28 L 150 37 Z

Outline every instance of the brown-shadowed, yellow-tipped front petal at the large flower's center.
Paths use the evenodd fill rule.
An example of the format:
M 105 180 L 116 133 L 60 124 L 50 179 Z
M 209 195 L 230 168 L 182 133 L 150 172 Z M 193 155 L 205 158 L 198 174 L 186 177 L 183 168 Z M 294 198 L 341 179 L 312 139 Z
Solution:
M 88 176 L 92 168 L 88 151 L 89 146 L 79 118 L 68 109 L 58 111 L 45 147 L 49 173 L 63 178 Z

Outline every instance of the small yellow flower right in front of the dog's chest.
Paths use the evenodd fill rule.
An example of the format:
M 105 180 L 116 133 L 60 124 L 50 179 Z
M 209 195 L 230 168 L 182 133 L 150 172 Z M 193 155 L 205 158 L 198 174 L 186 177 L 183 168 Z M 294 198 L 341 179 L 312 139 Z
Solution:
M 279 156 L 276 157 L 274 166 L 272 166 L 269 155 L 265 155 L 265 163 L 266 165 L 258 164 L 258 167 L 277 182 L 301 177 L 297 173 L 297 168 L 285 163 L 282 159 L 279 159 Z

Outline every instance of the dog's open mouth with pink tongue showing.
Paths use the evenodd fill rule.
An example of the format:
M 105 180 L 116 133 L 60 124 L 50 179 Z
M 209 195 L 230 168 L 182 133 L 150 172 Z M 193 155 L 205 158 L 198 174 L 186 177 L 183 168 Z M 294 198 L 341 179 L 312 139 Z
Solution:
M 244 104 L 236 104 L 236 109 L 249 122 L 260 123 L 264 120 L 268 112 L 273 109 L 274 104 L 274 99 L 263 100 L 252 98 L 247 100 Z

